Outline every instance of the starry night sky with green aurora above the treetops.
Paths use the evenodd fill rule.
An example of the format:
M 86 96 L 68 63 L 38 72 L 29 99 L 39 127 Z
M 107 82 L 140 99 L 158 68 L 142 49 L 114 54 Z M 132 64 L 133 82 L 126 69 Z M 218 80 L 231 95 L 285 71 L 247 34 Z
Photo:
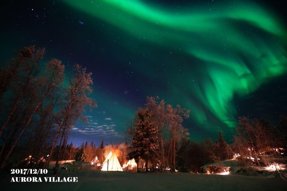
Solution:
M 62 0 L 1 2 L 1 64 L 24 46 L 93 73 L 87 112 L 69 141 L 124 141 L 146 96 L 190 109 L 190 139 L 232 141 L 238 116 L 287 114 L 287 27 L 278 2 Z

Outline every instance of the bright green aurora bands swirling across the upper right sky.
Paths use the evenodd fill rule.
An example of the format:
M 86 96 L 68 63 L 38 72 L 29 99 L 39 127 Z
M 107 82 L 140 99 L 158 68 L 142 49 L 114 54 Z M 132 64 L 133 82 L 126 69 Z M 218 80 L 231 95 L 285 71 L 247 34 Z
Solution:
M 184 86 L 170 83 L 172 95 L 165 95 L 173 100 L 184 98 L 183 106 L 191 109 L 191 117 L 199 124 L 208 121 L 207 109 L 234 127 L 234 95 L 245 96 L 270 78 L 286 73 L 286 28 L 274 14 L 254 3 L 229 2 L 215 5 L 212 10 L 204 5 L 171 10 L 142 1 L 63 1 L 128 35 L 199 60 L 202 66 L 193 71 L 194 63 L 190 63 L 182 71 L 197 76 L 196 82 L 183 78 Z M 170 67 L 178 64 L 171 63 Z M 162 76 L 170 80 L 164 73 Z

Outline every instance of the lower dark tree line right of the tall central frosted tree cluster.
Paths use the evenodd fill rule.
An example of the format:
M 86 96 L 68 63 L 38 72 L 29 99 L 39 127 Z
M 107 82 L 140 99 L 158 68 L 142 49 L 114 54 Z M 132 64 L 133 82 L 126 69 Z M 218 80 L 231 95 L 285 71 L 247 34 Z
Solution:
M 181 143 L 177 167 L 183 171 L 200 172 L 200 167 L 235 158 L 246 173 L 254 167 L 268 167 L 287 156 L 287 117 L 279 116 L 277 126 L 265 119 L 239 117 L 231 144 L 227 144 L 219 131 L 219 139 L 210 138 Z M 276 166 L 276 165 L 274 165 Z

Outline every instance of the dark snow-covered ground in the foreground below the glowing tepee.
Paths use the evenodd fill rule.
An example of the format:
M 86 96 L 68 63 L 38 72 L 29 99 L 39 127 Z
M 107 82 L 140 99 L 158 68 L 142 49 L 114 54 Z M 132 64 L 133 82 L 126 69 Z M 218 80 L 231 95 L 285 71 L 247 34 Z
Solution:
M 46 176 L 53 176 L 48 172 Z M 77 176 L 75 183 L 11 183 L 1 178 L 1 190 L 286 190 L 287 182 L 278 174 L 269 177 L 243 175 L 204 175 L 191 173 L 131 173 L 131 172 L 61 172 L 65 177 Z M 5 179 L 7 181 L 5 181 Z M 2 187 L 4 186 L 4 187 Z

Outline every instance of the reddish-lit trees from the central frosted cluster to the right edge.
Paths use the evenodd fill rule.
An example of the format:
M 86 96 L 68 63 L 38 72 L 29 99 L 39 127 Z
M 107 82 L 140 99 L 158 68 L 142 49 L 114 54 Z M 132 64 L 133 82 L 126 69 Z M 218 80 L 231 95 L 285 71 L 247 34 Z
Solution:
M 254 165 L 274 164 L 284 154 L 280 150 L 287 148 L 284 115 L 280 115 L 277 127 L 264 119 L 239 117 L 233 143 L 227 144 L 221 131 L 214 142 L 210 138 L 191 141 L 182 125 L 189 113 L 180 105 L 172 107 L 159 97 L 147 97 L 145 107 L 139 107 L 126 124 L 126 138 L 130 141 L 128 159 L 135 158 L 138 164 L 144 164 L 146 171 L 158 168 L 161 172 L 167 169 L 200 172 L 205 164 L 235 157 L 245 169 L 252 169 Z

